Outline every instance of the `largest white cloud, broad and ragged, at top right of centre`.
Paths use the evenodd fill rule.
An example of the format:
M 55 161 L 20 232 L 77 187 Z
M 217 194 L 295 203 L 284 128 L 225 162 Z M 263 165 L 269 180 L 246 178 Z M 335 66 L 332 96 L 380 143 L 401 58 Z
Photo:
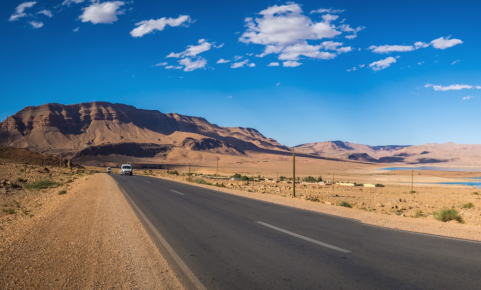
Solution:
M 316 41 L 325 38 L 333 38 L 343 32 L 356 32 L 362 28 L 352 29 L 347 24 L 336 27 L 332 24 L 339 16 L 341 10 L 319 9 L 311 13 L 324 13 L 321 21 L 315 22 L 303 14 L 301 6 L 294 2 L 286 5 L 274 5 L 257 13 L 261 17 L 248 17 L 245 19 L 246 31 L 239 40 L 246 44 L 260 44 L 264 46 L 262 53 L 256 57 L 264 57 L 268 54 L 277 54 L 279 60 L 291 60 L 289 64 L 300 63 L 302 57 L 311 59 L 332 59 L 338 54 L 351 51 L 351 47 L 340 47 L 341 42 L 336 43 L 335 49 L 328 48 L 324 44 L 312 45 L 308 41 Z M 332 41 L 330 45 L 332 46 Z M 333 51 L 326 51 L 333 50 Z M 297 66 L 297 65 L 296 65 Z

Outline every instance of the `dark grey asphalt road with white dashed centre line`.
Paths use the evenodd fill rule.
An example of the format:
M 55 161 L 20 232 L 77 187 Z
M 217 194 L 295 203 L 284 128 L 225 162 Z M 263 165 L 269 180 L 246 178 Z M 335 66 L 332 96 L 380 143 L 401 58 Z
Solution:
M 189 289 L 480 287 L 480 242 L 373 227 L 147 176 L 112 177 Z

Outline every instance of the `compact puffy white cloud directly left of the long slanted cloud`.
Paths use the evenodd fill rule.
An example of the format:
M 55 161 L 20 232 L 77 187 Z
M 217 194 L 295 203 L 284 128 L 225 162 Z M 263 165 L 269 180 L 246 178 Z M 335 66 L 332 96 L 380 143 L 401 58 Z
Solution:
M 82 22 L 91 22 L 93 24 L 114 23 L 118 20 L 117 15 L 124 14 L 123 10 L 119 10 L 125 5 L 123 1 L 107 1 L 100 3 L 99 0 L 92 0 L 92 4 L 82 8 L 84 11 L 78 19 Z

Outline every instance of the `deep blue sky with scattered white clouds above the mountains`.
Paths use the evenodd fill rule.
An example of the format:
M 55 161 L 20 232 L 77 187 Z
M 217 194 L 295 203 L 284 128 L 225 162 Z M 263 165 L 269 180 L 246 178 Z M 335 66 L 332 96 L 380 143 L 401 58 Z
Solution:
M 288 146 L 481 144 L 477 1 L 174 2 L 1 1 L 0 119 L 109 101 Z

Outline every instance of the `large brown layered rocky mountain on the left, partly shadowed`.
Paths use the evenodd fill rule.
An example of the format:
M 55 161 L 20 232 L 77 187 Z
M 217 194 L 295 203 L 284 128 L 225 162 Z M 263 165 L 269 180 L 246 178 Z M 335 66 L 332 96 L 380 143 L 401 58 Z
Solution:
M 109 102 L 25 107 L 9 117 L 8 130 L 13 147 L 74 158 L 92 154 L 165 158 L 181 149 L 232 156 L 289 150 L 253 128 L 220 127 L 201 117 Z M 6 131 L 5 120 L 0 124 L 2 144 L 7 143 Z M 136 146 L 127 150 L 128 144 Z

